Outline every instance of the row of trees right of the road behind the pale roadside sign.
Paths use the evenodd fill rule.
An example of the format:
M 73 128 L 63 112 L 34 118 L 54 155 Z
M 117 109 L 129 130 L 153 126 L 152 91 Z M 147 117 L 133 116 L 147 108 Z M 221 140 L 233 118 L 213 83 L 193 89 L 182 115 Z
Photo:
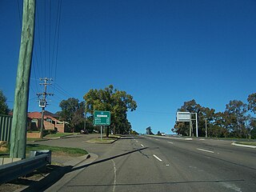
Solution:
M 247 102 L 232 100 L 223 112 L 201 106 L 194 99 L 184 102 L 178 111 L 198 114 L 198 136 L 218 138 L 256 138 L 256 93 L 250 94 Z M 194 125 L 194 121 L 193 127 Z M 176 122 L 173 132 L 189 135 L 189 122 Z M 195 135 L 195 130 L 193 129 Z

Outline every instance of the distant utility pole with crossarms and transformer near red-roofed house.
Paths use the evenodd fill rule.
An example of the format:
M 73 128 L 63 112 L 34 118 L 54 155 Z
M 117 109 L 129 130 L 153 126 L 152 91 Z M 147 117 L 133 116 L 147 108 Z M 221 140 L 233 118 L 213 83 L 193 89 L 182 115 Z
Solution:
M 54 95 L 54 94 L 47 93 L 47 86 L 51 85 L 51 83 L 48 83 L 48 81 L 52 81 L 52 78 L 40 78 L 40 81 L 44 81 L 43 83 L 39 83 L 40 85 L 44 86 L 44 91 L 42 93 L 37 94 L 38 97 L 42 96 L 42 98 L 39 100 L 39 106 L 42 107 L 42 118 L 41 118 L 41 127 L 40 127 L 40 138 L 42 138 L 44 113 L 45 113 L 45 108 L 47 106 L 46 96 Z

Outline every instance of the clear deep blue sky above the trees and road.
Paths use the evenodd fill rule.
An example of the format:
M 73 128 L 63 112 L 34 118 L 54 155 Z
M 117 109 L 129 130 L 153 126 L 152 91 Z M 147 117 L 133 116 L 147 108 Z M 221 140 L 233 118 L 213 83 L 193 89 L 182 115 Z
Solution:
M 41 110 L 38 78 L 54 78 L 51 112 L 62 99 L 82 101 L 88 90 L 113 84 L 138 103 L 128 115 L 134 130 L 170 134 L 183 102 L 218 112 L 256 91 L 254 0 L 62 0 L 61 7 L 55 36 L 58 0 L 37 1 L 30 111 Z M 0 90 L 11 109 L 19 11 L 21 0 L 0 1 Z

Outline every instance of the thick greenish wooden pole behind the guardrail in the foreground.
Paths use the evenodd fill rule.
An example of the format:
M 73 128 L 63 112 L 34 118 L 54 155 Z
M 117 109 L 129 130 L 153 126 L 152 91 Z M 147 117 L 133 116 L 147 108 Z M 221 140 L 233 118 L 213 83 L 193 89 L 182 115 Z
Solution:
M 26 158 L 26 126 L 30 88 L 30 70 L 34 44 L 35 0 L 23 1 L 22 38 L 14 96 L 14 114 L 10 136 L 10 157 Z

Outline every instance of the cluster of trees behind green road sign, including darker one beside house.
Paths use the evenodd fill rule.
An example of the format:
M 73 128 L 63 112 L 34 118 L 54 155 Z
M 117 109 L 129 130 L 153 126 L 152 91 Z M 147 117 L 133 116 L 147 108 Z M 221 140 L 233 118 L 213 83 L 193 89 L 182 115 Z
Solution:
M 128 110 L 134 111 L 137 103 L 134 98 L 124 90 L 114 89 L 113 85 L 105 89 L 89 90 L 84 96 L 84 102 L 77 98 L 62 100 L 59 106 L 62 108 L 57 114 L 62 121 L 70 123 L 71 131 L 86 130 L 93 132 L 98 130 L 94 126 L 94 110 L 110 111 L 110 126 L 106 126 L 106 135 L 134 133 L 127 119 Z

